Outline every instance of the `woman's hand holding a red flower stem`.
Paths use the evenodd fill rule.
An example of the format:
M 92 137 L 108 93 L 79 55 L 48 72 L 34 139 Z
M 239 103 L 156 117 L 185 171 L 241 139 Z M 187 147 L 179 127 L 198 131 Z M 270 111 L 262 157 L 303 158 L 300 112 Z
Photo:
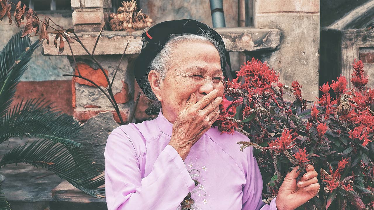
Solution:
M 278 210 L 294 210 L 315 197 L 319 191 L 318 173 L 314 170 L 314 167 L 308 165 L 306 167 L 307 172 L 296 185 L 297 176 L 301 173 L 296 172 L 297 169 L 298 166 L 286 175 L 279 188 L 276 198 Z

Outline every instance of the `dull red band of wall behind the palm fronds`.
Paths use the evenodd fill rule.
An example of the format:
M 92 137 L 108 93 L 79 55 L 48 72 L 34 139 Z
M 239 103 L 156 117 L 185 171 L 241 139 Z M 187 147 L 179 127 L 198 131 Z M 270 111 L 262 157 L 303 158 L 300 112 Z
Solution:
M 21 81 L 12 105 L 32 98 L 44 98 L 62 112 L 73 115 L 71 80 Z

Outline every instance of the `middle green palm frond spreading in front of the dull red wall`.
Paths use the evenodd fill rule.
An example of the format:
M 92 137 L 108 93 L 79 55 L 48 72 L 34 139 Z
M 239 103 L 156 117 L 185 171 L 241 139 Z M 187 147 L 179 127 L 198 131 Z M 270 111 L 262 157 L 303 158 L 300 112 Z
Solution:
M 0 117 L 0 143 L 12 137 L 50 139 L 67 147 L 82 146 L 74 142 L 82 125 L 61 111 L 49 108 L 50 104 L 40 99 L 23 101 Z

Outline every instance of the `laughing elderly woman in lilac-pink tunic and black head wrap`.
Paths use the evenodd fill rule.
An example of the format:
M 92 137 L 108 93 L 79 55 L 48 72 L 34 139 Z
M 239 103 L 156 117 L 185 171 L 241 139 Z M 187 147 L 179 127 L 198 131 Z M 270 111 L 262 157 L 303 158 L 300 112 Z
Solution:
M 312 165 L 296 183 L 293 169 L 266 205 L 246 136 L 212 124 L 223 96 L 226 64 L 222 38 L 195 20 L 166 21 L 142 35 L 135 77 L 161 105 L 156 119 L 117 127 L 105 147 L 109 210 L 295 209 L 318 190 Z

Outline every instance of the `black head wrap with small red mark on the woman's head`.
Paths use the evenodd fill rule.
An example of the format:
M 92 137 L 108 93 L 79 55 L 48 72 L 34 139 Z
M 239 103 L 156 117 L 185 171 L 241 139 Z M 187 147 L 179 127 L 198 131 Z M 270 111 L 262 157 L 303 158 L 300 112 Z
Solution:
M 142 34 L 141 37 L 148 43 L 144 47 L 145 43 L 143 42 L 141 53 L 135 61 L 135 78 L 143 93 L 145 93 L 149 99 L 156 100 L 156 98 L 150 94 L 152 90 L 149 83 L 146 83 L 148 67 L 157 54 L 163 49 L 166 41 L 169 40 L 172 34 L 209 34 L 222 46 L 223 59 L 221 60 L 221 68 L 223 71 L 225 70 L 226 48 L 221 36 L 215 30 L 208 25 L 192 19 L 161 22 Z

